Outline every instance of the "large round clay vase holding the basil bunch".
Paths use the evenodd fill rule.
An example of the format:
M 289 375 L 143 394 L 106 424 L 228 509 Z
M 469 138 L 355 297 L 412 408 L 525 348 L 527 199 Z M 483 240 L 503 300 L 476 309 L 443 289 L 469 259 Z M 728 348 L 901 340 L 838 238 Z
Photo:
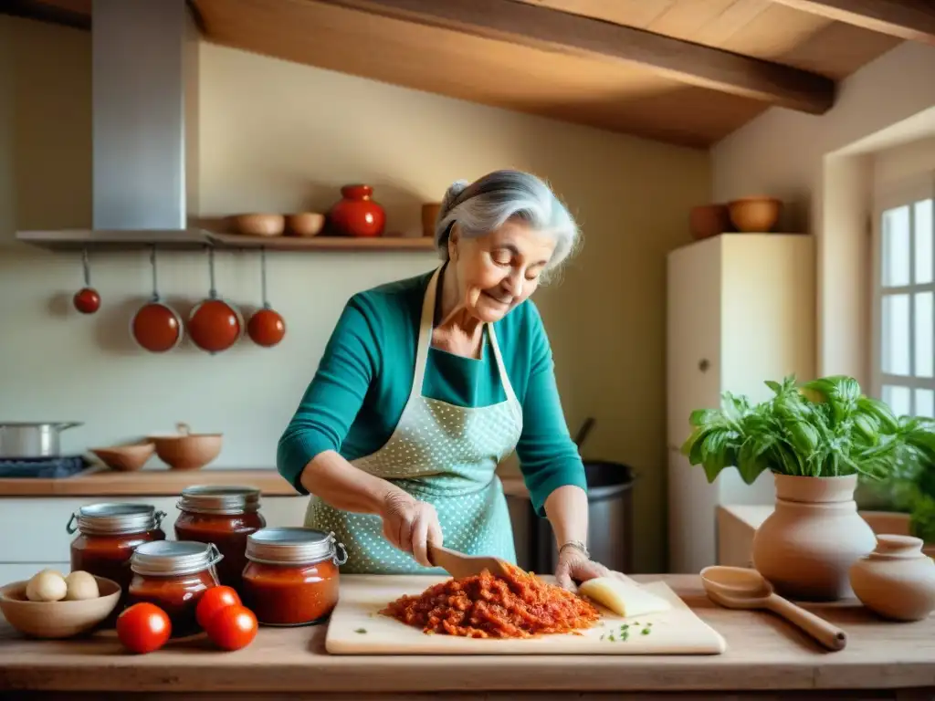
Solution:
M 773 474 L 776 508 L 756 529 L 755 568 L 786 598 L 837 601 L 852 596 L 851 565 L 876 537 L 857 513 L 856 475 Z

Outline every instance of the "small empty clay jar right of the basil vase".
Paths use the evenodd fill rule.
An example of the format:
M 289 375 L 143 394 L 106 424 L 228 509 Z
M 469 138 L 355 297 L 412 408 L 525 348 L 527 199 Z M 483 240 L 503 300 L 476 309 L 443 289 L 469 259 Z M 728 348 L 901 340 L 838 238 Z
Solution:
M 935 563 L 922 538 L 877 536 L 876 550 L 851 566 L 851 586 L 864 606 L 895 621 L 921 621 L 935 610 Z

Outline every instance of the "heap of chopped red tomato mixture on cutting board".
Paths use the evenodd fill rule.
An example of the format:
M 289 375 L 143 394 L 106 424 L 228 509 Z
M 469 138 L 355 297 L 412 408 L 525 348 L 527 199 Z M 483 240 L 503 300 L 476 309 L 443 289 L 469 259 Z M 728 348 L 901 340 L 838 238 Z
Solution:
M 381 613 L 424 633 L 463 637 L 533 637 L 590 628 L 600 614 L 590 602 L 509 565 L 507 577 L 488 570 L 448 579 L 418 596 L 405 595 Z

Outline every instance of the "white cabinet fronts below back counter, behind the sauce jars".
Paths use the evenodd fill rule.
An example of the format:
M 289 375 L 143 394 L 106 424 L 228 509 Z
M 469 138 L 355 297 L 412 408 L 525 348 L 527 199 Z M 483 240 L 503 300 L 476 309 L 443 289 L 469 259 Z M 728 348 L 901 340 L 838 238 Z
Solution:
M 68 519 L 87 504 L 101 502 L 130 502 L 151 504 L 165 511 L 165 536 L 175 539 L 176 517 L 179 509 L 177 496 L 120 496 L 120 497 L 6 497 L 0 499 L 0 582 L 17 579 L 22 567 L 35 573 L 47 566 L 61 567 L 70 560 L 71 541 L 76 537 L 65 530 Z M 264 496 L 261 510 L 270 526 L 302 525 L 307 496 Z

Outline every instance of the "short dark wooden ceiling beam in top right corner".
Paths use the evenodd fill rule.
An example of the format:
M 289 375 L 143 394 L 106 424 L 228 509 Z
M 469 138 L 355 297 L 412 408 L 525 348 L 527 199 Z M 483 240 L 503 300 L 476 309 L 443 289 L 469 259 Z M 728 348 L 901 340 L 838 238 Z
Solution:
M 862 29 L 935 46 L 933 0 L 773 0 Z

